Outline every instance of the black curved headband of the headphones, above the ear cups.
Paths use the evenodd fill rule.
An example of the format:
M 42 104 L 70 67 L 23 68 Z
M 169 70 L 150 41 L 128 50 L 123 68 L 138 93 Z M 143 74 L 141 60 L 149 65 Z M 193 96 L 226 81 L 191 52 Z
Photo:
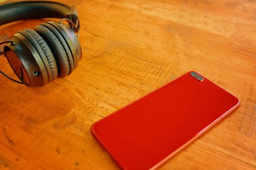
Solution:
M 79 28 L 78 12 L 74 7 L 52 1 L 20 1 L 0 6 L 0 25 L 21 19 L 43 17 L 68 18 Z M 71 29 L 75 32 L 73 26 Z

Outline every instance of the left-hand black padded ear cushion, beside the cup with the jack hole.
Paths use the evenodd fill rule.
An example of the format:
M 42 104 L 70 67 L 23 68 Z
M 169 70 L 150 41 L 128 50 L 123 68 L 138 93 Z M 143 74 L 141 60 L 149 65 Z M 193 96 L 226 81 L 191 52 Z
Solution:
M 42 59 L 44 67 L 47 71 L 48 82 L 55 79 L 58 76 L 57 64 L 53 57 L 52 51 L 50 50 L 47 43 L 43 40 L 43 38 L 31 29 L 21 30 L 18 33 L 26 37 L 36 49 L 36 51 L 39 53 L 39 56 Z M 51 65 L 49 64 L 49 61 L 52 61 Z

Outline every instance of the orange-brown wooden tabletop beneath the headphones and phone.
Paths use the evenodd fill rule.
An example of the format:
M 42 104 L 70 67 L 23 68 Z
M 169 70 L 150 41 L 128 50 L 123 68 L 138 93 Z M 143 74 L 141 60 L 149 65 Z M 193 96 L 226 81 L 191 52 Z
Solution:
M 117 170 L 91 125 L 190 70 L 242 103 L 159 170 L 256 169 L 256 1 L 63 1 L 83 58 L 43 87 L 0 76 L 0 170 Z M 45 21 L 0 26 L 0 40 Z M 0 69 L 14 76 L 3 57 Z

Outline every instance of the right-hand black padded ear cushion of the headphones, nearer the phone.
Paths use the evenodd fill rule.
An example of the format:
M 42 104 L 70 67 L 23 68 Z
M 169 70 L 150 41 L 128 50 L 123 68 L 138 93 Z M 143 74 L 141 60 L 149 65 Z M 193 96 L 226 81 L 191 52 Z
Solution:
M 58 34 L 58 30 L 47 23 L 36 26 L 34 30 L 43 37 L 52 50 L 59 70 L 58 77 L 70 74 L 74 69 L 72 54 L 63 37 Z

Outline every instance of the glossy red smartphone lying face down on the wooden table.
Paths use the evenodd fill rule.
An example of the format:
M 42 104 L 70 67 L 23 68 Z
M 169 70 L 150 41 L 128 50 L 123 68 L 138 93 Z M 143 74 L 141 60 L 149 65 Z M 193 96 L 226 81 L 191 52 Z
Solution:
M 155 169 L 240 105 L 190 71 L 91 127 L 92 135 L 124 170 Z

